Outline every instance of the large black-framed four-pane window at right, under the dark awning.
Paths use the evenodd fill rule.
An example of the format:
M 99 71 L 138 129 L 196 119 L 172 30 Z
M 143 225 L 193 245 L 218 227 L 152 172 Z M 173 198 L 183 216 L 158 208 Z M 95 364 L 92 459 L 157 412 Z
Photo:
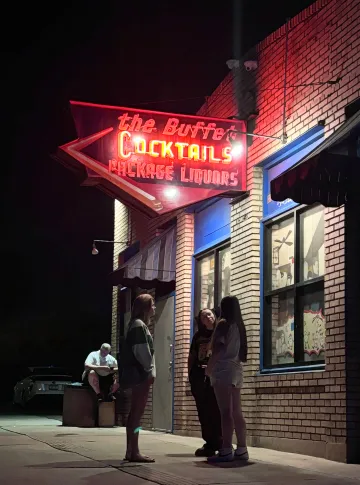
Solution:
M 264 367 L 323 363 L 323 207 L 298 208 L 264 231 Z

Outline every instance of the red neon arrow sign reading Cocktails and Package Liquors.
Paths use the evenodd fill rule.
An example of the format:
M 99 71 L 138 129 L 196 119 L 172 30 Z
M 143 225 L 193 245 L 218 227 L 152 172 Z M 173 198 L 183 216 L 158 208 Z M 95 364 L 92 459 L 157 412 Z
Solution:
M 155 214 L 246 189 L 246 138 L 231 133 L 246 131 L 243 121 L 81 102 L 71 108 L 79 138 L 60 151 Z

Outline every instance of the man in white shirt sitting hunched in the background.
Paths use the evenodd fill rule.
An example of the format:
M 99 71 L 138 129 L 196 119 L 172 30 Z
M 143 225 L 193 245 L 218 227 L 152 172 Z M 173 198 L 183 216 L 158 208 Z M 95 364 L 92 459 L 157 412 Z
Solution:
M 100 350 L 91 352 L 85 360 L 82 379 L 84 384 L 89 384 L 94 389 L 99 402 L 104 399 L 114 401 L 114 394 L 119 389 L 116 379 L 118 364 L 110 352 L 111 346 L 102 344 Z

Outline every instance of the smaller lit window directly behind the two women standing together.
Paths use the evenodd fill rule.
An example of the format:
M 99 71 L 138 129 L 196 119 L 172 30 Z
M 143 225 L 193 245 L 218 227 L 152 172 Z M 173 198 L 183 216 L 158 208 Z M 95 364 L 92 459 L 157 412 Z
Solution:
M 217 308 L 230 294 L 230 246 L 212 249 L 196 258 L 195 315 L 202 308 Z

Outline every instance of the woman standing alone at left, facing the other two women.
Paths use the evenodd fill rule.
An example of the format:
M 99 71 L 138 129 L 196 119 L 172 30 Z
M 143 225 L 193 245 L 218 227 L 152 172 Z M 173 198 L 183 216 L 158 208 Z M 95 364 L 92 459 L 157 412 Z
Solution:
M 121 387 L 132 389 L 131 408 L 126 425 L 125 459 L 136 463 L 155 461 L 139 451 L 140 422 L 156 376 L 154 344 L 148 328 L 154 315 L 155 304 L 152 296 L 139 295 L 132 307 L 121 359 Z

